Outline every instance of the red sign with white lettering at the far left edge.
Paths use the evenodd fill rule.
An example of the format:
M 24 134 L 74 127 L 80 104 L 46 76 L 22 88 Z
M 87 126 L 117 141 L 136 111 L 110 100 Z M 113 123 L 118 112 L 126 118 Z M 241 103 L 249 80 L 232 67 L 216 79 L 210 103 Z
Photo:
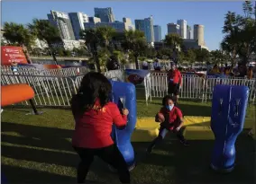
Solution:
M 10 66 L 12 63 L 27 64 L 27 59 L 23 53 L 23 48 L 13 46 L 1 47 L 1 65 Z

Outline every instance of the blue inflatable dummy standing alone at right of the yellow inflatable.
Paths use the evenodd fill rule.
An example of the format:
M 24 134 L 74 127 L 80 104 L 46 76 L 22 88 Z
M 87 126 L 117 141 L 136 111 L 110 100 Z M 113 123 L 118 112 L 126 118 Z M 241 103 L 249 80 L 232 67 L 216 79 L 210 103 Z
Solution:
M 215 134 L 211 167 L 215 171 L 233 171 L 234 144 L 237 136 L 242 132 L 248 96 L 247 86 L 215 86 L 211 117 L 211 128 Z

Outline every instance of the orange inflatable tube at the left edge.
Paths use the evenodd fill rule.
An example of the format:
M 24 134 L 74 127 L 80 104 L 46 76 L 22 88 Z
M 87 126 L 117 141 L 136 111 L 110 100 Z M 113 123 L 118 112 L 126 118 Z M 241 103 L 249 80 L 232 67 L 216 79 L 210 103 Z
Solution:
M 34 91 L 28 84 L 9 84 L 1 86 L 1 107 L 31 100 Z

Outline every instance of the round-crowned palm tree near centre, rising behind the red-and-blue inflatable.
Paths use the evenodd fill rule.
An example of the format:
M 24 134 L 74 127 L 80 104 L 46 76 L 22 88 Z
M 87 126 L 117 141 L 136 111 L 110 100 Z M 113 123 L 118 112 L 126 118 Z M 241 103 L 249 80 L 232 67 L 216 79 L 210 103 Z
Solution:
M 133 55 L 136 69 L 139 69 L 138 57 L 148 48 L 144 33 L 138 30 L 125 31 L 122 47 Z

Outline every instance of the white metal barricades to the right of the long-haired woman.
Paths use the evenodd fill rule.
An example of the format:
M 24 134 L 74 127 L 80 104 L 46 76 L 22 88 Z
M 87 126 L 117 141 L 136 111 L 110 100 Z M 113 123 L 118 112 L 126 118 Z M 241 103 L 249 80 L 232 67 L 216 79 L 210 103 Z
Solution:
M 146 101 L 151 97 L 162 98 L 168 94 L 168 74 L 151 73 L 151 83 L 145 83 Z M 256 80 L 242 78 L 206 78 L 197 74 L 183 74 L 182 86 L 179 92 L 180 99 L 200 99 L 208 101 L 212 99 L 213 90 L 216 84 L 245 85 L 250 89 L 249 101 L 254 102 L 256 97 Z

